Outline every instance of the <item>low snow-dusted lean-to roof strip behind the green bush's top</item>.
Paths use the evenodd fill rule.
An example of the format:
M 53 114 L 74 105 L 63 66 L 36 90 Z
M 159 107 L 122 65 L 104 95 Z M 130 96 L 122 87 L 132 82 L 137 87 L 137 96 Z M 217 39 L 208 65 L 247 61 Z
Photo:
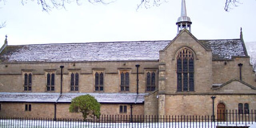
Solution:
M 90 94 L 100 103 L 143 103 L 146 94 L 136 93 L 34 93 L 0 92 L 0 102 L 71 102 L 76 96 Z

